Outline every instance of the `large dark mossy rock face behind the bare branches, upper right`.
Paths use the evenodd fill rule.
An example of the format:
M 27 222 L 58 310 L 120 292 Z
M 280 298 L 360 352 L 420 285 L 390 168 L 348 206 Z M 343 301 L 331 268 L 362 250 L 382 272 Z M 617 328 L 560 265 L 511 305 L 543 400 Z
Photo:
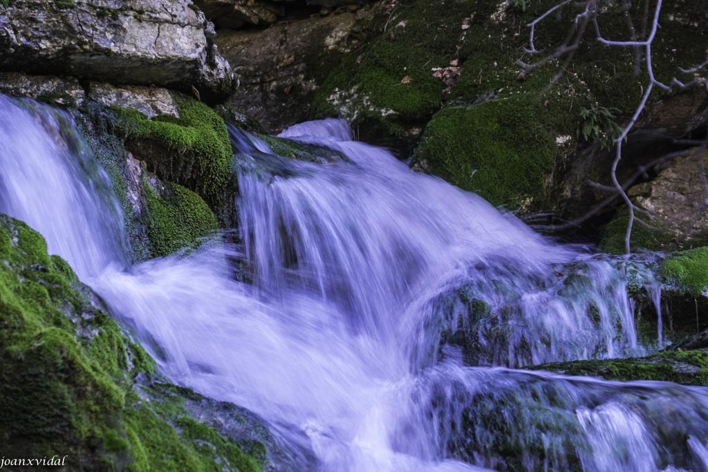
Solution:
M 602 150 L 596 153 L 597 159 L 593 156 L 592 163 L 584 159 L 586 154 L 580 159 L 575 156 L 593 142 L 604 139 L 607 144 L 607 131 L 632 117 L 647 84 L 644 76 L 635 74 L 632 51 L 601 45 L 590 28 L 574 52 L 573 67 L 567 74 L 561 74 L 560 64 L 555 60 L 542 61 L 538 67 L 521 73 L 518 60 L 529 41 L 529 30 L 523 25 L 542 16 L 555 3 L 525 2 L 522 8 L 520 2 L 508 1 L 472 5 L 423 0 L 385 2 L 382 14 L 373 22 L 375 27 L 371 28 L 373 38 L 348 54 L 317 91 L 314 115 L 346 117 L 361 130 L 360 138 L 367 142 L 381 143 L 382 138 L 396 137 L 401 149 L 409 151 L 405 157 L 411 155 L 410 151 L 422 137 L 427 143 L 414 157 L 418 168 L 479 192 L 496 205 L 523 212 L 558 211 L 562 219 L 573 219 L 575 209 L 583 205 L 578 198 L 595 195 L 584 192 L 588 189 L 585 182 L 582 186 L 577 185 L 577 180 L 565 185 L 566 179 L 573 180 L 569 174 L 585 179 L 590 170 L 593 177 L 596 175 L 593 180 L 601 177 L 601 183 L 606 185 L 610 169 L 606 163 L 612 163 L 611 153 Z M 638 6 L 633 4 L 633 8 Z M 537 49 L 553 51 L 558 47 L 577 13 L 581 12 L 575 7 L 562 8 L 557 15 L 545 17 L 536 28 L 537 40 L 543 35 L 539 40 L 543 45 L 539 42 Z M 641 15 L 639 11 L 636 13 Z M 653 65 L 661 81 L 670 83 L 672 76 L 680 75 L 678 68 L 685 67 L 683 64 L 700 64 L 705 60 L 708 38 L 700 27 L 708 19 L 705 14 L 705 8 L 697 0 L 666 5 L 662 10 L 661 40 L 657 40 L 653 49 Z M 620 16 L 611 10 L 600 14 L 605 37 L 624 38 L 627 24 L 618 20 Z M 687 21 L 687 17 L 692 19 Z M 688 29 L 691 33 L 686 35 Z M 667 97 L 657 94 L 651 101 Z M 494 105 L 486 104 L 491 100 L 501 102 L 496 105 L 499 110 L 505 108 L 503 102 L 518 103 L 518 122 L 510 127 L 507 113 L 473 123 L 474 115 L 493 111 Z M 665 128 L 658 134 L 670 140 L 675 133 L 680 135 L 681 129 L 690 129 L 692 122 L 701 121 L 697 117 L 700 101 L 689 98 L 680 104 L 669 101 L 672 100 L 666 101 L 664 110 L 657 107 L 656 113 L 639 127 Z M 451 110 L 435 115 L 446 107 Z M 472 111 L 474 108 L 477 110 Z M 459 111 L 462 109 L 469 112 L 462 113 Z M 605 111 L 609 113 L 603 114 Z M 431 121 L 433 115 L 436 118 Z M 442 120 L 450 120 L 451 115 L 456 115 L 456 122 L 447 127 Z M 686 115 L 693 117 L 679 125 Z M 528 116 L 532 117 L 524 118 Z M 603 121 L 603 117 L 607 119 Z M 487 139 L 489 130 L 504 121 L 506 126 Z M 426 123 L 433 126 L 427 136 L 420 132 Z M 538 132 L 533 132 L 535 139 L 527 142 L 525 134 L 530 127 Z M 591 132 L 583 135 L 586 127 Z M 503 137 L 508 129 L 514 130 L 508 135 L 510 139 Z M 452 136 L 455 131 L 462 133 Z M 523 135 L 518 136 L 517 132 Z M 484 136 L 477 138 L 477 134 Z M 460 145 L 454 152 L 441 151 L 445 148 L 439 139 L 441 135 L 452 142 L 465 140 L 468 145 Z M 658 151 L 657 137 L 661 138 L 641 140 L 638 136 L 635 143 Z M 537 161 L 534 144 L 539 140 L 544 143 L 544 155 L 540 162 L 534 162 Z M 482 148 L 493 152 L 477 151 Z M 637 151 L 639 155 L 639 148 Z M 553 154 L 550 163 L 548 154 Z M 586 168 L 576 172 L 573 167 L 576 161 L 582 161 Z M 529 166 L 534 166 L 534 172 L 530 173 L 532 183 L 527 178 Z M 501 175 L 506 171 L 512 175 L 518 171 L 518 175 L 508 179 L 508 175 Z M 537 171 L 543 174 L 540 178 Z M 627 166 L 628 173 L 634 171 L 636 167 Z M 568 193 L 556 198 L 559 183 Z M 583 192 L 576 192 L 578 187 Z M 601 195 L 600 200 L 606 196 Z M 593 200 L 588 206 L 594 203 Z

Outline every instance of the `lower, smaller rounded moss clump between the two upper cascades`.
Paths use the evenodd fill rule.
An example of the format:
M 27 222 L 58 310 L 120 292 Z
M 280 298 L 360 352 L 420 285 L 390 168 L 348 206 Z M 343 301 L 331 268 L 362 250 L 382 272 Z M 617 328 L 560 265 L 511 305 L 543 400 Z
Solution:
M 147 235 L 156 257 L 182 248 L 195 248 L 200 239 L 213 236 L 219 223 L 212 210 L 195 192 L 169 184 L 158 195 L 144 184 L 147 198 Z

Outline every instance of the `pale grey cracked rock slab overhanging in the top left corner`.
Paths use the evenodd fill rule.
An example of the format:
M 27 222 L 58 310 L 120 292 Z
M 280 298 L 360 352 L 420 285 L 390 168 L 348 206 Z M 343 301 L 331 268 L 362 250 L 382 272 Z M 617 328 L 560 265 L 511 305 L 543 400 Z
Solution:
M 0 70 L 227 96 L 234 76 L 188 0 L 0 2 Z

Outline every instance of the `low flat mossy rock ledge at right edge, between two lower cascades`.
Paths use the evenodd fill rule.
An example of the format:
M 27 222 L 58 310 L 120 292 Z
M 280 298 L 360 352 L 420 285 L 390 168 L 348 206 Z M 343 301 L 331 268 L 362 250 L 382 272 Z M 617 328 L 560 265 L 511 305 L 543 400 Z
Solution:
M 708 352 L 666 351 L 630 359 L 557 362 L 529 367 L 568 375 L 600 376 L 607 380 L 658 380 L 708 386 Z

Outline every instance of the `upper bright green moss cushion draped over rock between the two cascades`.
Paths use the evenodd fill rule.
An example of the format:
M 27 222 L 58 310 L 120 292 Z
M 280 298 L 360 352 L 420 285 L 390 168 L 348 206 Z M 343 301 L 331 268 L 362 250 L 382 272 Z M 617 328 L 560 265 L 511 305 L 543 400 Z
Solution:
M 136 110 L 115 108 L 126 146 L 160 178 L 197 192 L 213 209 L 232 184 L 232 148 L 219 115 L 191 98 L 177 100 L 179 118 L 148 120 Z

